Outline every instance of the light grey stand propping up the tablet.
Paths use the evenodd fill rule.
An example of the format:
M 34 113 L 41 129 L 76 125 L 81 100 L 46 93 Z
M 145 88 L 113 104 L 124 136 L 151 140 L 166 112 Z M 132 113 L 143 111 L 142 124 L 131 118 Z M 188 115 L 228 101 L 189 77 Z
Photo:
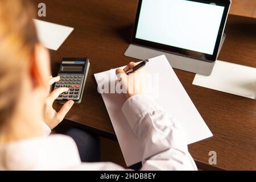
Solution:
M 226 35 L 223 34 L 220 48 L 218 49 L 218 55 L 221 51 L 225 38 L 226 38 Z M 215 64 L 215 62 L 210 63 L 207 61 L 197 60 L 190 57 L 179 56 L 169 52 L 159 51 L 154 48 L 147 48 L 147 47 L 138 46 L 135 44 L 130 44 L 130 46 L 127 48 L 125 52 L 125 56 L 133 57 L 141 60 L 150 59 L 152 57 L 156 57 L 160 55 L 166 55 L 172 68 L 177 68 L 184 71 L 198 73 L 200 75 L 206 75 L 206 76 L 209 76 L 210 73 L 212 73 L 212 69 Z

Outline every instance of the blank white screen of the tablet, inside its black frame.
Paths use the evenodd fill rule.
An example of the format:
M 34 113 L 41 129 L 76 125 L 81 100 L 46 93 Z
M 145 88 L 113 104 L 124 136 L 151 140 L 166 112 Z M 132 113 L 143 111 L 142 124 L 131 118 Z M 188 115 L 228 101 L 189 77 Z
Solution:
M 144 0 L 135 37 L 213 55 L 224 6 Z

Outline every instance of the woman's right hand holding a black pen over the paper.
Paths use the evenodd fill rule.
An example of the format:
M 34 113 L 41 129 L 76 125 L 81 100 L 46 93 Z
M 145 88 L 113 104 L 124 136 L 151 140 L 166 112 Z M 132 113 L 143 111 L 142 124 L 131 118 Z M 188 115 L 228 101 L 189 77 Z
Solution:
M 137 65 L 137 63 L 131 62 L 125 67 L 125 69 L 117 69 L 115 72 L 119 82 L 125 86 L 127 91 L 125 93 L 126 98 L 130 98 L 136 94 L 142 94 L 146 92 L 147 77 L 144 68 L 130 73 L 129 75 L 125 73 L 131 68 L 135 67 L 135 65 Z

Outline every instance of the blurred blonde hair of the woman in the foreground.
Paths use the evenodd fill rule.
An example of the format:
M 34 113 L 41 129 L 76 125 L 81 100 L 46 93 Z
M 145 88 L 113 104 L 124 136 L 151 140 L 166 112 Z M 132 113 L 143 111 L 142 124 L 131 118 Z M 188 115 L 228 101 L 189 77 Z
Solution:
M 34 16 L 29 0 L 0 0 L 0 127 L 13 114 L 23 75 L 34 64 L 31 56 L 38 43 Z

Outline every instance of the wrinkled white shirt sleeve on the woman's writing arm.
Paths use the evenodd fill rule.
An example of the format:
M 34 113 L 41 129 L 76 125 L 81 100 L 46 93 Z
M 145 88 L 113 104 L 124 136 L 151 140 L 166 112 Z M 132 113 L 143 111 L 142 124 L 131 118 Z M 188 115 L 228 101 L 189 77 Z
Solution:
M 197 170 L 179 123 L 150 96 L 129 98 L 122 112 L 141 142 L 142 170 Z

